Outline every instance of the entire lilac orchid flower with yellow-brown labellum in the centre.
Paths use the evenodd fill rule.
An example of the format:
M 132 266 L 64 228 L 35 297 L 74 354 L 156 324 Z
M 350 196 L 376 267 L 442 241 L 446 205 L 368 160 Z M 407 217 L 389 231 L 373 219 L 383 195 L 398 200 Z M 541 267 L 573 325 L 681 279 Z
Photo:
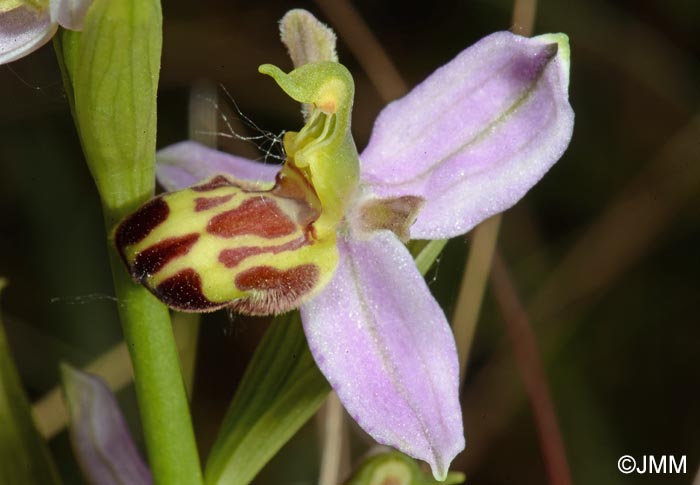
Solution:
M 464 234 L 525 195 L 569 143 L 568 71 L 563 34 L 492 34 L 389 104 L 358 156 L 342 65 L 263 65 L 310 106 L 284 136 L 284 165 L 167 147 L 157 174 L 171 192 L 126 218 L 115 244 L 175 309 L 299 307 L 350 415 L 444 479 L 464 448 L 455 342 L 403 241 Z

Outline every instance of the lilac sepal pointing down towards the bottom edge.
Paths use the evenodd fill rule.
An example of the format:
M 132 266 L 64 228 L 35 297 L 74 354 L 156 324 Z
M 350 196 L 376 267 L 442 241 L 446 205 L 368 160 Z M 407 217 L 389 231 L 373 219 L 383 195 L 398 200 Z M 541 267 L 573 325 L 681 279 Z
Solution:
M 316 363 L 365 431 L 444 478 L 464 448 L 457 353 L 444 313 L 392 233 L 338 247 L 333 280 L 301 308 Z

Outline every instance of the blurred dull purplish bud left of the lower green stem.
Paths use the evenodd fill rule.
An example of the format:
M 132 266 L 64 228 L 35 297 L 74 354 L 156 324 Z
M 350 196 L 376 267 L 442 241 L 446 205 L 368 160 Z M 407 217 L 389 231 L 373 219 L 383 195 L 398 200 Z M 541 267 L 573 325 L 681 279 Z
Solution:
M 67 364 L 61 365 L 61 374 L 73 451 L 88 481 L 97 485 L 152 483 L 107 385 Z

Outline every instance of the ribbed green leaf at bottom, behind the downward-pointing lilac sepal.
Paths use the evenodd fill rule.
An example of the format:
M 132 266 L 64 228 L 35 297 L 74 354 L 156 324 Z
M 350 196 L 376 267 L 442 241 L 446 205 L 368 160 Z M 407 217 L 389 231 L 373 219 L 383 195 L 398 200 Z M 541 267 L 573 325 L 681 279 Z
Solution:
M 331 388 L 306 344 L 298 312 L 275 318 L 236 391 L 205 483 L 247 484 L 318 410 Z

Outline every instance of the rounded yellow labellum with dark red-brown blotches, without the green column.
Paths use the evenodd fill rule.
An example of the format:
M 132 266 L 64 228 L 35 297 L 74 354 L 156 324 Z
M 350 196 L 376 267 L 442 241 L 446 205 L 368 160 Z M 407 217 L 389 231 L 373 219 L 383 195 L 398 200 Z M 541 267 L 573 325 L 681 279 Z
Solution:
M 337 265 L 335 238 L 316 238 L 320 213 L 314 189 L 286 165 L 269 190 L 218 175 L 156 197 L 117 226 L 114 242 L 132 277 L 172 308 L 277 314 Z

